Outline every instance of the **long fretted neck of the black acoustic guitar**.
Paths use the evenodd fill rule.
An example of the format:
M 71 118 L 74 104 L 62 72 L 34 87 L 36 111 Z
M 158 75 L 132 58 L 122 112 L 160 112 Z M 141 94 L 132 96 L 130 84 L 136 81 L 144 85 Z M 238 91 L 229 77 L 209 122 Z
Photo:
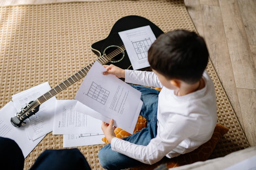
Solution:
M 104 65 L 108 62 L 111 61 L 111 58 L 108 58 L 106 55 L 100 56 L 97 61 L 101 64 Z M 69 78 L 52 88 L 51 90 L 47 91 L 45 94 L 37 98 L 37 101 L 39 104 L 42 104 L 46 100 L 52 98 L 62 90 L 66 89 L 67 87 L 71 86 L 73 83 L 79 81 L 80 79 L 84 78 L 90 68 L 93 66 L 94 62 L 90 63 L 86 67 L 82 68 L 80 71 L 76 72 L 75 74 L 71 75 Z

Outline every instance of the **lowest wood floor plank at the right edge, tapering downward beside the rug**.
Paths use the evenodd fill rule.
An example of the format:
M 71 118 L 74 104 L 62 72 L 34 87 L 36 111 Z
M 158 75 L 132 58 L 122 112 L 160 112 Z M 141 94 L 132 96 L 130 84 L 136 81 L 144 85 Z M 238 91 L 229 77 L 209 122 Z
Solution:
M 251 146 L 256 146 L 256 90 L 237 89 L 244 132 Z

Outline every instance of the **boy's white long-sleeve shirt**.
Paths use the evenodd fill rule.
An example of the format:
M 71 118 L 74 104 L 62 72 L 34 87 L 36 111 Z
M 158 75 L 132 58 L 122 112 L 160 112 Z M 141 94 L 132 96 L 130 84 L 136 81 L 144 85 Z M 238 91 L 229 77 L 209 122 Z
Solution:
M 160 87 L 157 108 L 157 135 L 147 146 L 113 138 L 111 148 L 145 164 L 154 164 L 164 156 L 172 158 L 188 153 L 207 142 L 217 122 L 214 84 L 205 71 L 205 87 L 176 96 L 160 83 L 154 72 L 125 70 L 125 82 Z

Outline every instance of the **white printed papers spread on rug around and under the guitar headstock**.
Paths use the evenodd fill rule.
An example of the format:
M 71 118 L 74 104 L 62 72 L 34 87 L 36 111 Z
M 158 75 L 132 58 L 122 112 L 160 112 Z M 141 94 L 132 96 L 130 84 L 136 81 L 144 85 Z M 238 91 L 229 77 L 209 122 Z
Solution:
M 39 111 L 25 120 L 25 126 L 14 127 L 10 118 L 20 112 L 30 101 L 36 100 L 51 89 L 48 82 L 32 87 L 12 96 L 12 101 L 0 109 L 0 136 L 13 139 L 23 152 L 24 157 L 38 145 L 43 137 L 63 134 L 63 147 L 96 145 L 104 143 L 101 121 L 74 110 L 76 100 L 56 100 L 55 97 L 45 101 Z

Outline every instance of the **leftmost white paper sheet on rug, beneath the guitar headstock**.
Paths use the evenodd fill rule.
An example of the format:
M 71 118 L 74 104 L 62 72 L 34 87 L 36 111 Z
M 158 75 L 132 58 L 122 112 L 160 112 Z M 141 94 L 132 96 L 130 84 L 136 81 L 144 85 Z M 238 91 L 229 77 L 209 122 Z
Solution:
M 22 153 L 25 158 L 37 146 L 37 144 L 43 139 L 44 136 L 34 141 L 29 140 L 26 136 L 26 132 L 23 126 L 20 128 L 16 128 L 11 124 L 10 118 L 13 116 L 13 113 L 15 112 L 16 108 L 12 101 L 10 101 L 3 108 L 1 108 L 0 136 L 14 140 L 22 150 Z

